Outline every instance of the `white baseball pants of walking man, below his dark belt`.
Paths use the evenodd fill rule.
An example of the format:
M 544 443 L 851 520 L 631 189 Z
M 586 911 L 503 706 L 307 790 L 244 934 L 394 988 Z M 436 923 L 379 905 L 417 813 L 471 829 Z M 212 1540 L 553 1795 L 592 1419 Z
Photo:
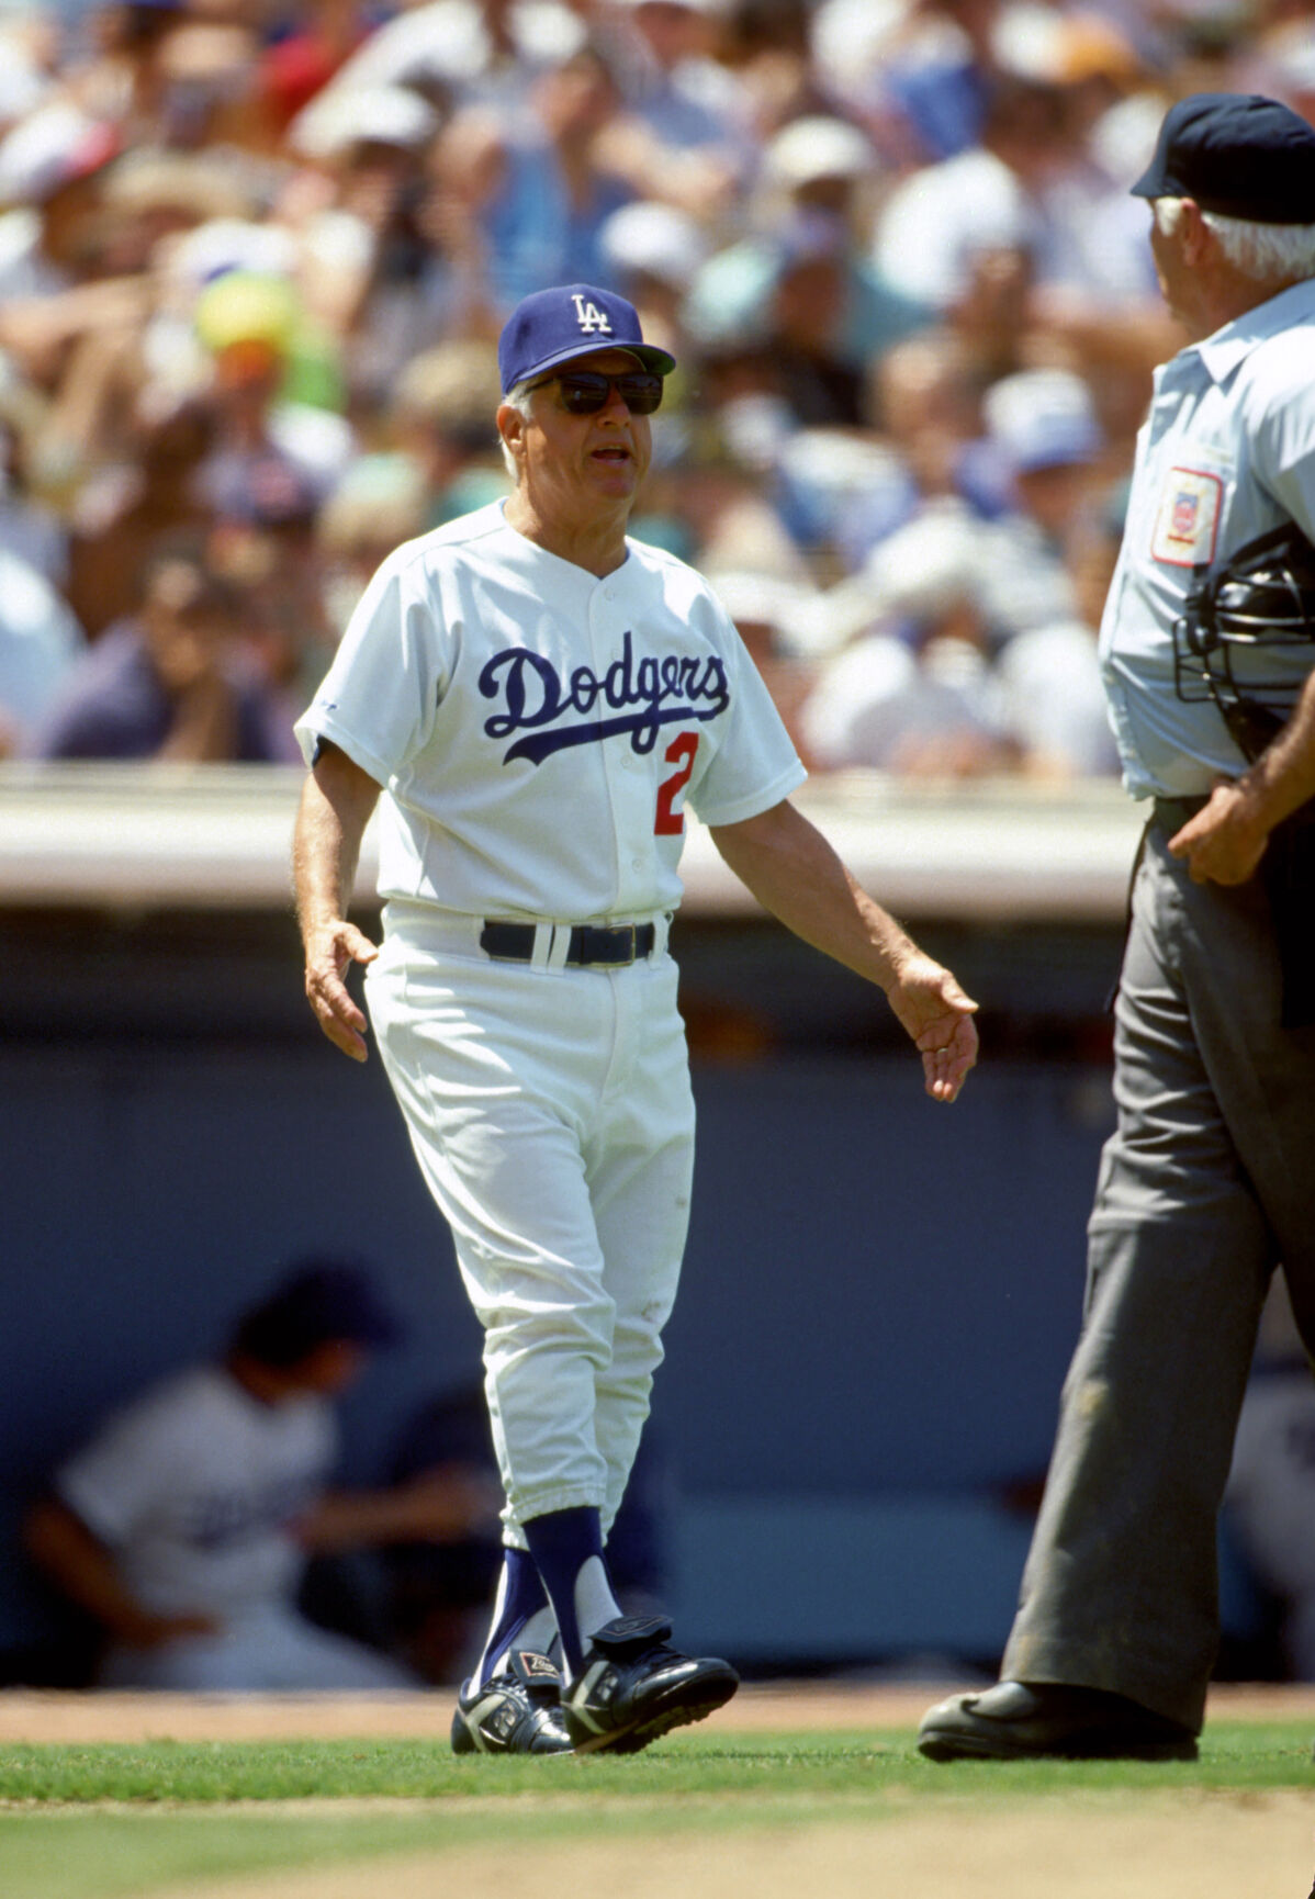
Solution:
M 490 961 L 466 923 L 390 906 L 367 970 L 374 1039 L 485 1329 L 505 1540 L 581 1504 L 606 1534 L 690 1217 L 677 965 Z

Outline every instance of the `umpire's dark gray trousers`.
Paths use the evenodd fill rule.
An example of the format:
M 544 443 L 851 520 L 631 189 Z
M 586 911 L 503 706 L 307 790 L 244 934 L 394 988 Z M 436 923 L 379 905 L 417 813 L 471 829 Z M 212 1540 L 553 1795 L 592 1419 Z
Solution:
M 1279 1027 L 1262 879 L 1193 885 L 1167 851 L 1180 818 L 1152 820 L 1134 879 L 1119 1119 L 1001 1679 L 1108 1688 L 1199 1728 L 1216 1517 L 1279 1261 L 1315 1343 L 1315 1029 Z

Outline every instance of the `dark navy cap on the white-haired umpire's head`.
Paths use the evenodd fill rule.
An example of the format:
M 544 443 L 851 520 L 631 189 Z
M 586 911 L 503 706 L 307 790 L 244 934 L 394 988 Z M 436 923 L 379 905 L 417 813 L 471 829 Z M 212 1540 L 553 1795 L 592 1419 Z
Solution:
M 1165 114 L 1134 197 L 1191 197 L 1254 224 L 1315 224 L 1315 129 L 1260 93 L 1191 93 Z

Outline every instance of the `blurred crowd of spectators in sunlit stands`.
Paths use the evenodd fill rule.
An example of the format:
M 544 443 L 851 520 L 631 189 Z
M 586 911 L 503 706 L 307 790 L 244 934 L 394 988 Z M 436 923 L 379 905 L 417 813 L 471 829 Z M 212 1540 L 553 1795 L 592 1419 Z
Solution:
M 1115 769 L 1095 636 L 1180 334 L 1165 106 L 1296 0 L 0 0 L 0 756 L 295 761 L 397 541 L 505 492 L 496 336 L 680 370 L 638 536 L 813 769 Z

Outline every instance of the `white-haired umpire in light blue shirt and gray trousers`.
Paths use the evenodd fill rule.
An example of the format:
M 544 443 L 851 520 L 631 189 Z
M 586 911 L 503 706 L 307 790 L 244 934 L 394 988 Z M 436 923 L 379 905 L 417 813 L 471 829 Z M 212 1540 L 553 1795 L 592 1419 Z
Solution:
M 1150 801 L 1117 1128 L 1001 1681 L 925 1715 L 933 1760 L 1195 1757 L 1216 1515 L 1279 1263 L 1315 1346 L 1315 594 L 1300 572 L 1315 131 L 1271 99 L 1193 95 L 1133 190 L 1191 340 L 1155 372 L 1100 632 L 1125 784 Z

